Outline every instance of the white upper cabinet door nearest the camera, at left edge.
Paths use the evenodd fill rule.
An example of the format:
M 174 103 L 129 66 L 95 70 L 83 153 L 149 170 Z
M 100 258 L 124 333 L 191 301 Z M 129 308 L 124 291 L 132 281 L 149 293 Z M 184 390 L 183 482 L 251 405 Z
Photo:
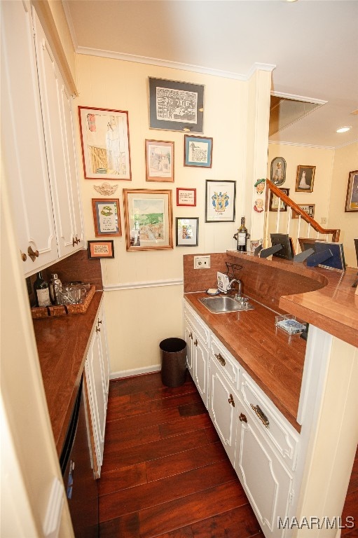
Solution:
M 58 251 L 29 1 L 1 2 L 1 71 L 2 160 L 24 273 L 31 275 Z

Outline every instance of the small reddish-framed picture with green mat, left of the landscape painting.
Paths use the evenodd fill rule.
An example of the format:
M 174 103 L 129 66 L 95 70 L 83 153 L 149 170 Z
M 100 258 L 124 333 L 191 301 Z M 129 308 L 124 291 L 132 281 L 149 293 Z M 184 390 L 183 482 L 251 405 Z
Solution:
M 122 235 L 118 199 L 92 198 L 92 212 L 96 237 Z

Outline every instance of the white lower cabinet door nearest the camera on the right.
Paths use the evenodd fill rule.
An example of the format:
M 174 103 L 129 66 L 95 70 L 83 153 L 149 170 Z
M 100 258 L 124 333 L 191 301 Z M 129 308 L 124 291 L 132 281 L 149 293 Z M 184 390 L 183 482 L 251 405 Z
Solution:
M 287 516 L 292 477 L 239 403 L 235 471 L 266 538 L 284 536 L 278 518 Z

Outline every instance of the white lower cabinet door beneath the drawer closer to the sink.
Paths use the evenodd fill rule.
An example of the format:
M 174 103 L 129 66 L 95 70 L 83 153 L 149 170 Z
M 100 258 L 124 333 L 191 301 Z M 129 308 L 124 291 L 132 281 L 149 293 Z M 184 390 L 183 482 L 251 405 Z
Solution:
M 209 378 L 209 415 L 230 462 L 234 464 L 238 396 L 219 370 L 219 366 L 212 360 L 210 360 Z

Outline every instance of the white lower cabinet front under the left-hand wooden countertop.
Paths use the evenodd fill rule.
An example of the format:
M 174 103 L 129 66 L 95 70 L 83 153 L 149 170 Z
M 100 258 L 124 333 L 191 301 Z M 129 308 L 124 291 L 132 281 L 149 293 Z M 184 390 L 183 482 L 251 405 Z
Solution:
M 103 462 L 104 433 L 109 391 L 109 357 L 103 307 L 99 308 L 85 361 L 85 381 L 92 424 L 92 452 L 95 476 L 99 478 Z

